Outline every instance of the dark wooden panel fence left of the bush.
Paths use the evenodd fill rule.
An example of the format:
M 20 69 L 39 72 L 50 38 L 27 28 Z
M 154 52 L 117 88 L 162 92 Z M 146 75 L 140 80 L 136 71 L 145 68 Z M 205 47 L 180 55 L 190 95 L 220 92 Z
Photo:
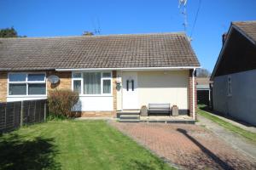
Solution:
M 23 125 L 44 122 L 47 111 L 46 99 L 0 103 L 0 133 Z

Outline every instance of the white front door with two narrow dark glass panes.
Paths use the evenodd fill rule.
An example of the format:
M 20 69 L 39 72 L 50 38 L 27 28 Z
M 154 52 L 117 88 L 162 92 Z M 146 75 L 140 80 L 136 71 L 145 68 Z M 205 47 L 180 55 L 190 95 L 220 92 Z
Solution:
M 123 110 L 138 108 L 137 72 L 123 72 Z

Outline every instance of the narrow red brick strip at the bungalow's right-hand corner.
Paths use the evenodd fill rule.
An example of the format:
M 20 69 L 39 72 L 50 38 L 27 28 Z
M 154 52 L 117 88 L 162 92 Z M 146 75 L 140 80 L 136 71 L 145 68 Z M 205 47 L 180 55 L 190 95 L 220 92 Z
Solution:
M 189 116 L 193 116 L 193 70 L 189 70 Z M 196 86 L 196 77 L 195 77 Z M 195 90 L 195 119 L 197 119 L 197 95 Z

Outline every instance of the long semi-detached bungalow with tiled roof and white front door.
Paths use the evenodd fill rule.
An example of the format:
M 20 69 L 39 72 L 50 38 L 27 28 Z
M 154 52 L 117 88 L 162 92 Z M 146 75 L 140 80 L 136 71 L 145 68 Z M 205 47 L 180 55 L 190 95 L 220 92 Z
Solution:
M 195 118 L 195 69 L 184 33 L 0 39 L 0 100 L 79 92 L 82 116 L 116 116 L 149 103 L 177 105 Z M 57 85 L 49 76 L 60 78 Z

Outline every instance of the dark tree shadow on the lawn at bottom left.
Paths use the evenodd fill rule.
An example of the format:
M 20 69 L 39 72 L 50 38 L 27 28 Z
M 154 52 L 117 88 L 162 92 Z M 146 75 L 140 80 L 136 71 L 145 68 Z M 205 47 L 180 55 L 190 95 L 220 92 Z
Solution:
M 22 139 L 17 134 L 0 136 L 0 169 L 61 169 L 55 162 L 54 139 Z

